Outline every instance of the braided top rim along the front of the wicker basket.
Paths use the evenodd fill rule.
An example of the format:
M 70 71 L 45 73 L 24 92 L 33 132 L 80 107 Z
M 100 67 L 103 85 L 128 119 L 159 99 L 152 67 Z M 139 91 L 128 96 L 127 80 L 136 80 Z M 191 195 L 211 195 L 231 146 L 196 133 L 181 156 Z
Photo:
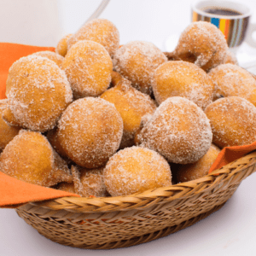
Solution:
M 131 210 L 146 207 L 149 204 L 172 201 L 188 197 L 211 189 L 216 183 L 231 179 L 237 172 L 241 172 L 256 162 L 256 150 L 242 156 L 240 159 L 211 172 L 205 177 L 195 179 L 186 183 L 177 183 L 168 187 L 148 189 L 142 193 L 113 197 L 75 197 L 67 196 L 47 201 L 35 201 L 32 204 L 38 207 L 47 207 L 53 210 L 66 209 L 78 212 L 113 212 L 117 210 Z M 245 178 L 242 177 L 241 180 Z M 147 201 L 147 202 L 145 202 Z M 121 205 L 122 206 L 121 206 Z M 131 207 L 136 205 L 137 207 Z

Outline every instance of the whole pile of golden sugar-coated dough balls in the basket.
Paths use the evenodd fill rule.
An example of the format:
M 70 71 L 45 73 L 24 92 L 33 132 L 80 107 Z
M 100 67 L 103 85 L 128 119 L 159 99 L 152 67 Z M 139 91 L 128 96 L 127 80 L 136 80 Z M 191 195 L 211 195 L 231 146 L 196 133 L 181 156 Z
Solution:
M 205 21 L 164 53 L 119 45 L 111 21 L 91 20 L 55 52 L 15 61 L 6 96 L 1 172 L 85 197 L 188 182 L 221 148 L 256 140 L 256 79 Z

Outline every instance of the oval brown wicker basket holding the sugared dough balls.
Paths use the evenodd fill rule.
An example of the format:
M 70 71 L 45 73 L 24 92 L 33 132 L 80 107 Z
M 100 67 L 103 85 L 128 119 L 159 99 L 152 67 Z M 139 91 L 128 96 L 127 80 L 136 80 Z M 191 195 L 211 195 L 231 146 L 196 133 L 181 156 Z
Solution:
M 70 247 L 130 247 L 182 230 L 222 207 L 255 172 L 256 152 L 195 181 L 106 197 L 63 197 L 16 211 L 40 234 Z

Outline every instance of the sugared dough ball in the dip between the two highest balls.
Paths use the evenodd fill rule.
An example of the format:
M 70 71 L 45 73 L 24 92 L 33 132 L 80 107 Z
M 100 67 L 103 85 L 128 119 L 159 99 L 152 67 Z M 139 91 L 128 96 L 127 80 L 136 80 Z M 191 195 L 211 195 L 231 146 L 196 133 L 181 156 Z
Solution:
M 132 41 L 119 48 L 113 57 L 113 66 L 137 89 L 151 94 L 154 69 L 167 61 L 160 49 L 144 41 Z

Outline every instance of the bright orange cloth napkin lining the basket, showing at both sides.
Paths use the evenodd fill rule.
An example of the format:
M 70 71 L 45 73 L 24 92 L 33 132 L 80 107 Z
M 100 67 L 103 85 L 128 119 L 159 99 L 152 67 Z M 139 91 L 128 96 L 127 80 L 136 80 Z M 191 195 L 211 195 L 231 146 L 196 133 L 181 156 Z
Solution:
M 0 99 L 5 98 L 5 84 L 12 63 L 22 56 L 30 55 L 40 50 L 52 50 L 53 47 L 38 47 L 21 44 L 0 43 Z M 1 135 L 0 135 L 1 136 Z M 217 160 L 213 163 L 209 172 L 216 170 L 242 155 L 256 149 L 256 142 L 241 147 L 224 148 Z M 0 170 L 1 171 L 1 170 Z M 18 207 L 29 201 L 44 201 L 73 194 L 61 190 L 44 188 L 25 183 L 14 177 L 9 177 L 0 172 L 0 207 Z M 79 196 L 79 195 L 74 195 Z

